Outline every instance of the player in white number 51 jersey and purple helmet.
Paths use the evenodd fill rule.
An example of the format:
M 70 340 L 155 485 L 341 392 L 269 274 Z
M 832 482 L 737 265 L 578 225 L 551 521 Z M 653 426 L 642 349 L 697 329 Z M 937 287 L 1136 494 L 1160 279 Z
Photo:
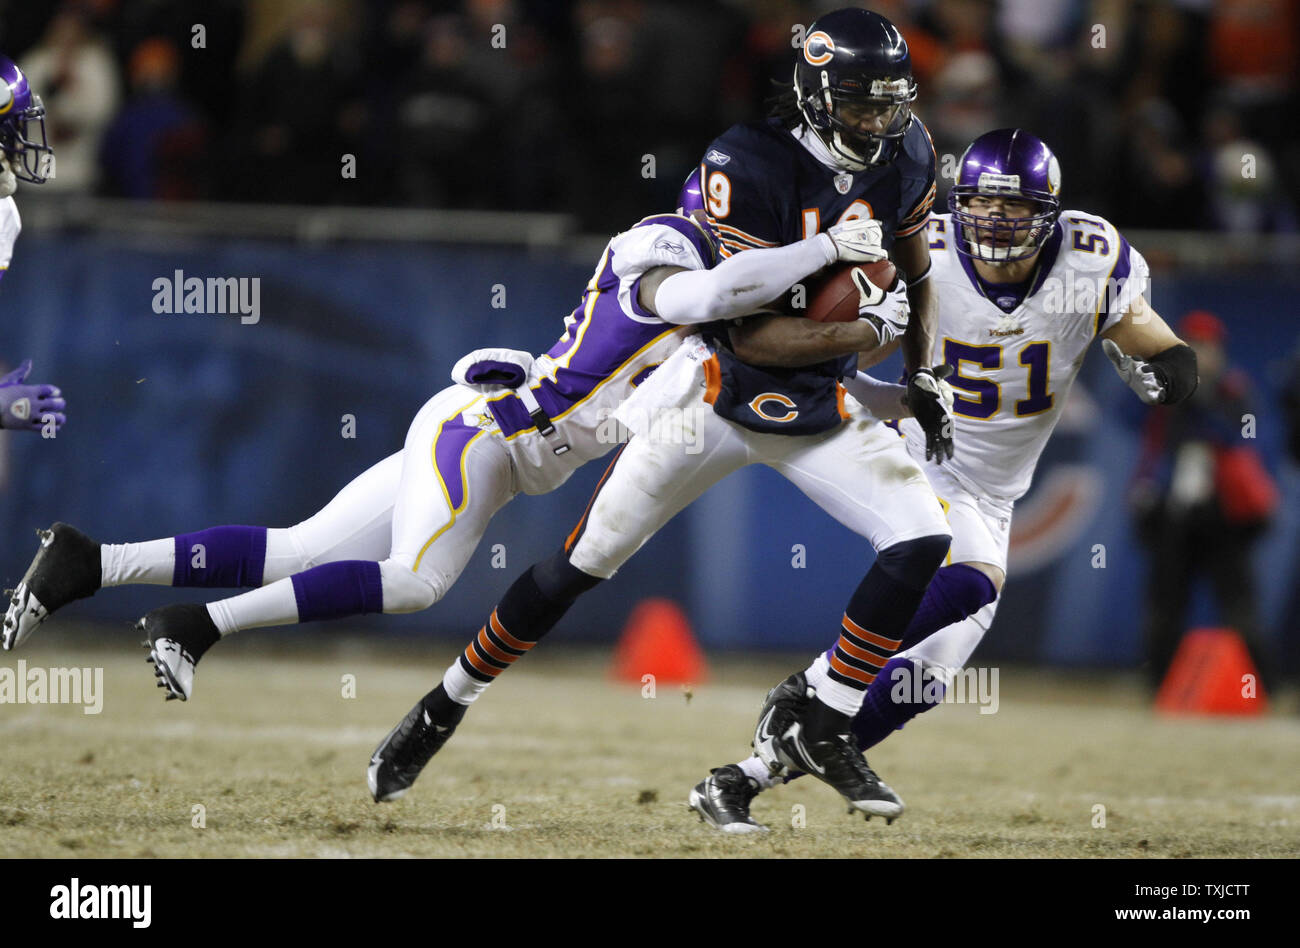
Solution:
M 854 718 L 863 750 L 940 704 L 988 631 L 1006 576 L 1013 506 L 1030 486 L 1092 341 L 1101 337 L 1119 376 L 1147 404 L 1180 402 L 1196 388 L 1195 354 L 1147 299 L 1141 254 L 1101 217 L 1062 211 L 1060 191 L 1060 165 L 1048 146 L 1020 129 L 1000 129 L 966 150 L 950 212 L 930 222 L 930 280 L 940 300 L 933 362 L 954 369 L 957 451 L 948 464 L 923 469 L 953 542 L 902 650 Z M 776 337 L 779 345 L 807 332 L 798 320 L 774 320 L 777 329 L 786 334 Z M 859 372 L 859 385 L 880 384 Z M 898 428 L 920 458 L 924 434 L 916 423 L 905 417 Z M 798 719 L 811 693 L 802 674 L 772 689 L 755 754 L 714 770 L 692 789 L 701 819 L 724 832 L 766 828 L 749 806 L 786 770 L 772 736 Z

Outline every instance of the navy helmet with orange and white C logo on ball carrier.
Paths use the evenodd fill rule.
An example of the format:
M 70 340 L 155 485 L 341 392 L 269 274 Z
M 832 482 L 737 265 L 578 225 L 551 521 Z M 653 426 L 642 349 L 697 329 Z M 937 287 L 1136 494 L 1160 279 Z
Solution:
M 803 121 L 850 170 L 888 164 L 916 99 L 907 42 L 879 13 L 827 13 L 803 38 L 794 95 Z

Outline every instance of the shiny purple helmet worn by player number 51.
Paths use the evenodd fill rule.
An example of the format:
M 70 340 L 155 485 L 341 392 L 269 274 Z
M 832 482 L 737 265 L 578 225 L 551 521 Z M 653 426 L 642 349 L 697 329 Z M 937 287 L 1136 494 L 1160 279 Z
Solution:
M 1030 217 L 985 217 L 966 204 L 975 195 L 1031 202 Z M 988 131 L 966 148 L 957 185 L 948 195 L 957 252 L 985 263 L 1019 260 L 1037 252 L 1061 216 L 1061 163 L 1043 139 L 1022 129 Z

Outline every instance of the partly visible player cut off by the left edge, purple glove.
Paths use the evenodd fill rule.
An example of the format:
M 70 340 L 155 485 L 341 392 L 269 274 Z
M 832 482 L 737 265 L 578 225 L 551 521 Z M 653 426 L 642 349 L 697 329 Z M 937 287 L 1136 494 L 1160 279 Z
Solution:
M 39 139 L 36 135 L 39 134 Z M 43 185 L 52 170 L 53 150 L 46 144 L 46 109 L 31 94 L 18 65 L 0 56 L 0 277 L 9 269 L 13 244 L 22 230 L 13 194 L 18 181 Z M 62 427 L 66 403 L 57 386 L 29 384 L 31 359 L 0 377 L 0 428 L 39 432 Z

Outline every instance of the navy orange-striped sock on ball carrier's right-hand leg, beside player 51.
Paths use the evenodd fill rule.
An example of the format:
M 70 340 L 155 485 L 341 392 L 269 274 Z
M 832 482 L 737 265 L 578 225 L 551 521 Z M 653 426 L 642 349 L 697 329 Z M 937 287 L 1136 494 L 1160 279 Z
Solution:
M 876 555 L 844 610 L 840 639 L 809 667 L 816 689 L 812 707 L 824 705 L 840 715 L 855 715 L 866 689 L 902 644 L 926 588 L 948 554 L 949 537 L 931 536 L 894 544 Z M 812 730 L 815 720 L 816 731 Z M 848 722 L 820 713 L 807 722 L 809 739 L 845 733 Z M 826 731 L 824 728 L 838 730 Z

